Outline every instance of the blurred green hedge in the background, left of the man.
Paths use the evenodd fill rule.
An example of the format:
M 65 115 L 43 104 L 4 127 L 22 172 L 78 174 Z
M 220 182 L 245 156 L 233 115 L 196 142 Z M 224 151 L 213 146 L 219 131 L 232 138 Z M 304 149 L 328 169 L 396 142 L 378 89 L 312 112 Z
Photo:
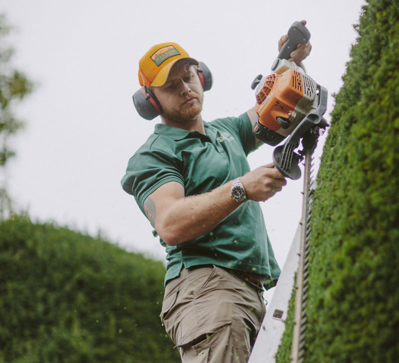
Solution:
M 15 216 L 0 223 L 0 362 L 179 362 L 159 319 L 165 267 Z

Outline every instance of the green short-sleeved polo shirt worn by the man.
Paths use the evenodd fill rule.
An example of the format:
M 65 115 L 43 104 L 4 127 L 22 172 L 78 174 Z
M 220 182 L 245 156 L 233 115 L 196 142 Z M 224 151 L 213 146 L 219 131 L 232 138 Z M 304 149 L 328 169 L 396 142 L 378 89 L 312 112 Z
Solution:
M 145 214 L 146 198 L 162 184 L 177 181 L 185 195 L 212 190 L 250 171 L 246 156 L 255 139 L 246 113 L 239 117 L 204 122 L 205 134 L 162 124 L 129 160 L 122 187 L 134 195 Z M 153 232 L 157 235 L 156 231 Z M 177 246 L 167 245 L 165 283 L 185 268 L 214 264 L 266 277 L 265 287 L 275 285 L 280 273 L 267 236 L 258 202 L 248 200 L 208 233 Z

